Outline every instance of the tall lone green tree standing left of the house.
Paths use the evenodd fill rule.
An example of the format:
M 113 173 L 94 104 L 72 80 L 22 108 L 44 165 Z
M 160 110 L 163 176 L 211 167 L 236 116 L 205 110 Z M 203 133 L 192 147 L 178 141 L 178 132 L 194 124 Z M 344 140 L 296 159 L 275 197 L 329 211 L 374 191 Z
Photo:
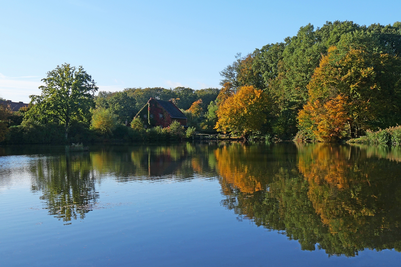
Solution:
M 35 119 L 44 123 L 64 125 L 65 138 L 72 121 L 90 122 L 89 109 L 94 107 L 95 81 L 82 66 L 70 64 L 57 66 L 42 79 L 45 85 L 39 87 L 41 95 L 30 95 L 32 108 L 24 119 Z

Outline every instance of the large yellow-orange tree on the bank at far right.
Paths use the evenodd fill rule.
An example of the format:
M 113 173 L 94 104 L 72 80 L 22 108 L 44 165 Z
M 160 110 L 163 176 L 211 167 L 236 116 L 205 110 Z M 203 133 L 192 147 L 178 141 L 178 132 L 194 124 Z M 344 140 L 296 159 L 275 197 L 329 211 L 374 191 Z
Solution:
M 330 47 L 307 86 L 309 99 L 298 113 L 298 129 L 331 142 L 399 123 L 400 62 L 361 47 Z

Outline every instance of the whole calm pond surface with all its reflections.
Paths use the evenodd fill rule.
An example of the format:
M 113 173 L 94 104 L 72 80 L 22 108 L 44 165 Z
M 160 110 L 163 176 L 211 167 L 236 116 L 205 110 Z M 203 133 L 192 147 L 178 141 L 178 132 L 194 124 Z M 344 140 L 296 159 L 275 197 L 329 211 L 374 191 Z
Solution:
M 400 148 L 0 148 L 0 267 L 401 266 L 400 224 Z

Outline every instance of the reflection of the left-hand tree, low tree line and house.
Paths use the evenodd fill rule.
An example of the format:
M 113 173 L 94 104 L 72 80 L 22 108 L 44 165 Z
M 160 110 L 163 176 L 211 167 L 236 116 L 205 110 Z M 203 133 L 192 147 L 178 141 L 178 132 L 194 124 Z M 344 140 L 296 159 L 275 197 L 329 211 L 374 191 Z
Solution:
M 192 144 L 107 147 L 94 152 L 32 158 L 28 164 L 28 172 L 33 177 L 32 191 L 41 192 L 49 214 L 65 222 L 83 219 L 97 207 L 99 193 L 95 190 L 95 181 L 101 182 L 103 178 L 127 182 L 216 176 L 213 150 Z M 11 176 L 12 171 L 8 171 L 8 177 Z

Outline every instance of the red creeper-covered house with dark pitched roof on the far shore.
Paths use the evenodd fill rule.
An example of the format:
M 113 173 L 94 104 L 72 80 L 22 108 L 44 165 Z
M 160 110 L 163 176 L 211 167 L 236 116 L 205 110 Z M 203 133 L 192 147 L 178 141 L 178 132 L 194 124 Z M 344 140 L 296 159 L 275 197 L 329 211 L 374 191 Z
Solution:
M 148 103 L 135 115 L 144 122 L 145 128 L 167 127 L 172 121 L 178 121 L 186 127 L 186 117 L 172 101 L 151 98 Z

